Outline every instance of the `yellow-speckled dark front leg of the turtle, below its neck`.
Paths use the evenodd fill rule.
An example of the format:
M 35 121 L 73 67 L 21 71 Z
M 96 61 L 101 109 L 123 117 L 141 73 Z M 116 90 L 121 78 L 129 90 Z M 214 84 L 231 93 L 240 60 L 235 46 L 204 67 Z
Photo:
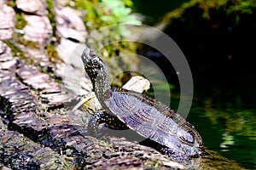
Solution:
M 88 132 L 92 136 L 102 136 L 104 127 L 114 130 L 125 130 L 129 128 L 117 116 L 109 115 L 105 111 L 96 111 L 88 122 Z

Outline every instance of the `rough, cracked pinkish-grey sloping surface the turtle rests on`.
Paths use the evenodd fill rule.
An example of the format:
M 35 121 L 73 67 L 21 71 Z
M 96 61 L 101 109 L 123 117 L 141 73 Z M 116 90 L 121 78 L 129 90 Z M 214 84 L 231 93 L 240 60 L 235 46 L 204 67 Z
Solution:
M 31 8 L 25 3 L 36 6 Z M 4 40 L 0 40 L 0 169 L 214 167 L 209 163 L 212 159 L 193 159 L 189 164 L 181 165 L 150 147 L 125 138 L 107 135 L 96 139 L 88 135 L 86 127 L 90 114 L 72 111 L 79 103 L 79 94 L 91 93 L 90 80 L 79 65 L 84 47 L 79 46 L 79 42 L 84 42 L 87 32 L 79 16 L 68 18 L 65 14 L 65 10 L 73 9 L 62 10 L 59 5 L 57 23 L 64 27 L 56 30 L 61 35 L 61 42 L 56 42 L 55 46 L 59 48 L 61 59 L 53 63 L 44 47 L 57 32 L 53 32 L 52 23 L 47 18 L 46 1 L 16 1 L 16 7 L 26 12 L 27 24 L 22 31 L 14 32 L 15 10 L 0 0 L 0 38 Z M 73 14 L 76 13 L 73 11 Z M 65 17 L 71 22 L 68 25 L 61 21 Z M 67 30 L 63 31 L 65 27 Z M 25 33 L 20 35 L 20 32 Z M 20 36 L 39 47 L 16 41 L 15 37 Z M 79 42 L 70 41 L 69 37 L 77 38 Z M 78 58 L 70 60 L 71 55 Z M 226 167 L 236 166 L 233 162 L 224 162 Z

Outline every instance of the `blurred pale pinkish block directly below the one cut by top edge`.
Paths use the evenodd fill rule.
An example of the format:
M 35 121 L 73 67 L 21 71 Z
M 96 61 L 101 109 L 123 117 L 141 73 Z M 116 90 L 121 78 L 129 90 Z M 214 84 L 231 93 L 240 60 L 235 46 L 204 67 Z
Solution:
M 46 45 L 52 35 L 52 26 L 47 16 L 26 15 L 27 25 L 24 27 L 24 38 L 28 41 Z

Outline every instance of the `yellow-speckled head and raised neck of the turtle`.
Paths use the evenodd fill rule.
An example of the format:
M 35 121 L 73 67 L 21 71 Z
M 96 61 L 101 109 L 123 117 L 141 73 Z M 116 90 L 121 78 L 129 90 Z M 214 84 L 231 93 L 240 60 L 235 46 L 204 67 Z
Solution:
M 90 48 L 85 48 L 82 54 L 84 70 L 90 77 L 93 90 L 96 94 L 102 94 L 110 88 L 108 68 L 96 53 Z

